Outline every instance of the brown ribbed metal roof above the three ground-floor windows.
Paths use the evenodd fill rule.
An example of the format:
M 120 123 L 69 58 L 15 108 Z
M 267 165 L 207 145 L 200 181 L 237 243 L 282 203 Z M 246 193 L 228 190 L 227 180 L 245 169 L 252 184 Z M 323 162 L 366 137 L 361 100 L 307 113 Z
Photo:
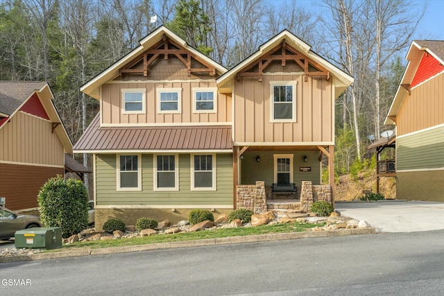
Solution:
M 230 150 L 231 126 L 101 127 L 96 115 L 74 146 L 76 153 L 149 153 L 160 150 Z

